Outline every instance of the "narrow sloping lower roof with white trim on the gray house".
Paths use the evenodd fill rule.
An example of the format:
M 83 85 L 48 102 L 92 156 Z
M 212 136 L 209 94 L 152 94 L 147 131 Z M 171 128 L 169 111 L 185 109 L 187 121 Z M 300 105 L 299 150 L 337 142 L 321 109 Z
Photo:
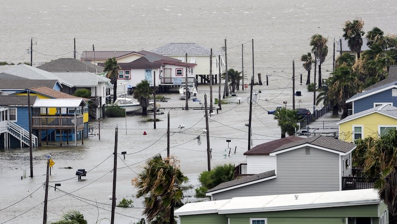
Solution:
M 219 192 L 231 190 L 234 188 L 239 188 L 239 187 L 243 187 L 246 185 L 262 182 L 262 181 L 265 181 L 268 179 L 273 179 L 275 177 L 276 177 L 275 171 L 270 170 L 270 171 L 254 174 L 251 176 L 246 176 L 246 177 L 226 181 L 226 182 L 220 183 L 217 186 L 209 189 L 205 195 L 210 196 L 215 193 L 219 193 Z

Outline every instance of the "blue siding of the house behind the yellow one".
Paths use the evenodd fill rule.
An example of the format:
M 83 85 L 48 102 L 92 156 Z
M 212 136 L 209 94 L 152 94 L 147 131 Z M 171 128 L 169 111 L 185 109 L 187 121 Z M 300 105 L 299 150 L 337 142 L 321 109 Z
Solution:
M 392 97 L 392 89 L 354 101 L 354 113 L 362 112 L 374 107 L 374 103 L 393 103 L 397 106 L 397 97 Z

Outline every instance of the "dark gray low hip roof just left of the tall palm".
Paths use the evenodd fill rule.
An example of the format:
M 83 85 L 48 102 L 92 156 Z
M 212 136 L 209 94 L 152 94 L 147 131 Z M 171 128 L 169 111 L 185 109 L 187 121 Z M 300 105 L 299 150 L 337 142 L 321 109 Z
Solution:
M 52 60 L 40 66 L 37 66 L 45 71 L 49 72 L 78 72 L 78 71 L 89 71 L 92 73 L 103 72 L 104 67 L 98 66 L 92 63 L 87 63 L 74 58 L 58 58 Z

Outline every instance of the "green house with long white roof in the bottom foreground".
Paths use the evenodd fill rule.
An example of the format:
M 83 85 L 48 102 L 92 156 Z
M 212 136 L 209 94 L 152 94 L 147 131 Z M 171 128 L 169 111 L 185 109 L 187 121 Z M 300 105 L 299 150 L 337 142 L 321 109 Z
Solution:
M 235 197 L 188 203 L 180 224 L 388 224 L 374 189 Z

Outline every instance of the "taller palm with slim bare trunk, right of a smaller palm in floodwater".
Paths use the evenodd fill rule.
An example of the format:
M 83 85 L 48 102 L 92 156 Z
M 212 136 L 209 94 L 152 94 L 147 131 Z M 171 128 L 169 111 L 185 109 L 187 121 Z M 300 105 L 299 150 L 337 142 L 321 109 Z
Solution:
M 312 46 L 312 53 L 314 53 L 315 58 L 319 58 L 319 88 L 322 86 L 321 78 L 321 64 L 326 60 L 328 55 L 328 38 L 321 36 L 320 34 L 315 34 L 310 40 L 310 46 Z

